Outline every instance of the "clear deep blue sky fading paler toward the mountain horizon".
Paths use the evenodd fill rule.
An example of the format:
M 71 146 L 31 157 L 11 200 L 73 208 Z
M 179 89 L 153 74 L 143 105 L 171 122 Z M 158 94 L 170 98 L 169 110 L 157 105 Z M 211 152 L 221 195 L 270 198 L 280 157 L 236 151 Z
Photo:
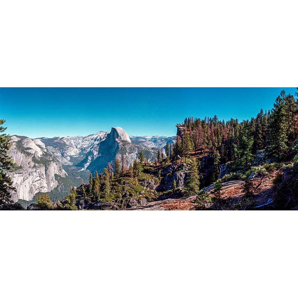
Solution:
M 205 116 L 251 119 L 296 88 L 0 88 L 6 133 L 87 136 L 122 127 L 128 135 L 174 136 L 176 123 Z

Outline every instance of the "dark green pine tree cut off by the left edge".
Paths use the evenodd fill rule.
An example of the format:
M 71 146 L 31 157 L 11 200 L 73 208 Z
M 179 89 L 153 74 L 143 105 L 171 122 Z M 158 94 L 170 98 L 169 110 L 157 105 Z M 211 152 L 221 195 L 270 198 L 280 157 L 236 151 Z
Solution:
M 1 126 L 4 122 L 5 120 L 0 119 L 0 133 L 7 129 L 7 127 Z M 16 191 L 13 181 L 8 176 L 8 172 L 13 172 L 17 167 L 17 164 L 9 156 L 9 148 L 12 146 L 9 141 L 9 134 L 0 134 L 0 208 L 4 204 L 13 204 L 10 192 Z

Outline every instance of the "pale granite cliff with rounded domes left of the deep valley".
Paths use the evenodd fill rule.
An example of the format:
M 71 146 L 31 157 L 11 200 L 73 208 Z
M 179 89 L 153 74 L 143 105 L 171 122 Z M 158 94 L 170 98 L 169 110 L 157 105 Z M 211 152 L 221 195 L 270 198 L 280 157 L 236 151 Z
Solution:
M 62 177 L 67 175 L 61 163 L 47 152 L 40 139 L 12 136 L 10 142 L 13 143 L 10 155 L 19 166 L 9 174 L 17 189 L 16 193 L 11 193 L 13 201 L 30 201 L 35 193 L 49 192 L 58 185 L 55 174 Z

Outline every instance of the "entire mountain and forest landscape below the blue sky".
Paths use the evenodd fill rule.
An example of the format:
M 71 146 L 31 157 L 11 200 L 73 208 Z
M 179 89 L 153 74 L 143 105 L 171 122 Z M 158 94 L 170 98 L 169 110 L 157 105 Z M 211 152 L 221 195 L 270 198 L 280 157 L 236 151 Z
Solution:
M 250 120 L 172 125 L 172 137 L 1 134 L 1 209 L 298 209 L 298 91 Z

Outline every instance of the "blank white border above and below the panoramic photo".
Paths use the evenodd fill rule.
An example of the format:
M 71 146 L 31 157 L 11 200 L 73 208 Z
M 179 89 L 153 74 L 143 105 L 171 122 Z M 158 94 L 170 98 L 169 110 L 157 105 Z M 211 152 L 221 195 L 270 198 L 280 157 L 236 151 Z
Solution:
M 6 1 L 0 14 L 1 87 L 297 86 L 292 1 Z M 296 218 L 1 212 L 1 294 L 296 297 Z

